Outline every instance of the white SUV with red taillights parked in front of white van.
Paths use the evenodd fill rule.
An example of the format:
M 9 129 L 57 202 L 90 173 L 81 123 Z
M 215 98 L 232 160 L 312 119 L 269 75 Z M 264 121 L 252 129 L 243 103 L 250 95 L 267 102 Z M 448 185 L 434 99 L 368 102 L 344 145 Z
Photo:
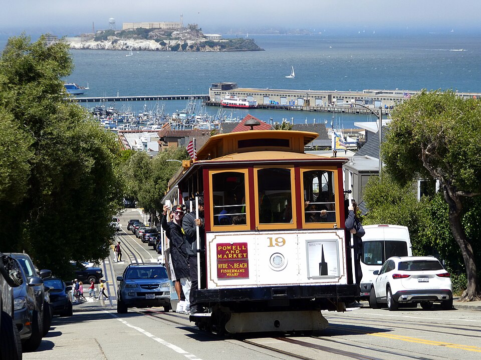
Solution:
M 386 303 L 389 310 L 420 303 L 428 309 L 433 302 L 452 308 L 452 284 L 449 272 L 434 256 L 391 256 L 375 270 L 369 305 L 378 308 Z

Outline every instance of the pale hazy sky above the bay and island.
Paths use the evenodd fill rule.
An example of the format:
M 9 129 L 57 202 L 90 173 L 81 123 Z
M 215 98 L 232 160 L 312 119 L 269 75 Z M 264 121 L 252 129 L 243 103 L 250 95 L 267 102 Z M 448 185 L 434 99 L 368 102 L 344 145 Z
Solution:
M 315 32 L 481 31 L 478 0 L 1 0 L 0 33 L 73 35 L 122 22 L 197 23 L 203 32 L 303 28 Z

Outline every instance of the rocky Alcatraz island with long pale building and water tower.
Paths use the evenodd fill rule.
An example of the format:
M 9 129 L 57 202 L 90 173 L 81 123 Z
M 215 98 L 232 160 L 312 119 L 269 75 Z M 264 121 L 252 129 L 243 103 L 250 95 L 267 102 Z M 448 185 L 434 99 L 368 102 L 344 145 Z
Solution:
M 67 37 L 72 49 L 148 50 L 148 51 L 262 51 L 252 38 L 223 39 L 219 34 L 204 34 L 197 24 L 180 22 L 123 22 L 115 29 L 109 19 L 108 30 L 97 30 Z

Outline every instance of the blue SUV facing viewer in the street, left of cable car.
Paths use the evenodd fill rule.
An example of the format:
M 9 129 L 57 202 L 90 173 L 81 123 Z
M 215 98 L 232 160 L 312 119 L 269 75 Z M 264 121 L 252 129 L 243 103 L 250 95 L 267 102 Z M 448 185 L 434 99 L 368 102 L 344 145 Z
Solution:
M 165 266 L 153 263 L 131 263 L 117 276 L 117 312 L 129 307 L 163 306 L 170 310 L 170 280 Z

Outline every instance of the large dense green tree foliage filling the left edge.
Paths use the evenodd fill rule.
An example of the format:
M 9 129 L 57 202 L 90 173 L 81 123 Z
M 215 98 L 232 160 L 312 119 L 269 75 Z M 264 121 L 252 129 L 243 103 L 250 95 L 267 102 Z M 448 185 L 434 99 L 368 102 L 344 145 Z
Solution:
M 61 77 L 72 68 L 68 44 L 45 36 L 13 37 L 0 57 L 0 248 L 59 275 L 70 259 L 108 254 L 122 204 L 119 141 L 67 99 Z

